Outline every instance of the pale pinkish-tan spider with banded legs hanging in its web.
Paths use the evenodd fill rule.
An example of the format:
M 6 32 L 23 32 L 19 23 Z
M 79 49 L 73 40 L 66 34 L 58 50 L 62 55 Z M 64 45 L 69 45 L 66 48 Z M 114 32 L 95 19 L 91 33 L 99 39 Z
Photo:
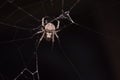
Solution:
M 57 39 L 59 36 L 57 35 L 57 32 L 60 31 L 59 26 L 60 26 L 60 21 L 57 21 L 57 26 L 55 26 L 52 22 L 48 22 L 48 20 L 45 19 L 46 17 L 42 18 L 42 27 L 41 30 L 36 32 L 34 35 L 38 35 L 42 33 L 42 36 L 38 40 L 38 45 L 39 46 L 40 42 L 42 41 L 43 38 L 45 38 L 47 41 L 52 41 L 54 43 L 54 38 L 56 37 Z

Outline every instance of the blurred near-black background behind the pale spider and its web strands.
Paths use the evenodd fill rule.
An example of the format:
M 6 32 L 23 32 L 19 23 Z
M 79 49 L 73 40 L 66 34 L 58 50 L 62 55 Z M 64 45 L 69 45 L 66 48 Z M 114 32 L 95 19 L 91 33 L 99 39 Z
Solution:
M 75 1 L 65 0 L 64 10 L 69 10 Z M 60 27 L 67 27 L 58 33 L 60 45 L 57 39 L 52 50 L 51 42 L 44 39 L 40 44 L 41 80 L 120 80 L 119 3 L 117 0 L 81 0 L 70 12 L 79 25 L 61 21 Z M 53 4 L 49 0 L 15 0 L 14 4 L 38 19 L 61 14 L 61 0 L 53 0 Z M 0 5 L 0 22 L 28 29 L 41 24 L 13 4 L 0 0 Z M 0 80 L 13 80 L 25 67 L 23 63 L 34 71 L 36 37 L 9 42 L 34 33 L 0 24 Z M 25 75 L 30 76 L 27 72 Z

